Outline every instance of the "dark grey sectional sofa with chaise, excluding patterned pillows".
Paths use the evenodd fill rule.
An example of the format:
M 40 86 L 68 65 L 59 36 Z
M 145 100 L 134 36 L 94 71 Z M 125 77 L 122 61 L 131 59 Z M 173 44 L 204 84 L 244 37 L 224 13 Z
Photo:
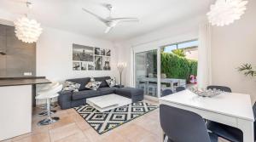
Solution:
M 69 82 L 77 82 L 80 85 L 79 92 L 63 91 L 60 92 L 58 103 L 61 109 L 69 109 L 79 105 L 85 105 L 86 99 L 106 94 L 119 94 L 121 96 L 131 98 L 132 102 L 143 100 L 143 89 L 139 88 L 109 88 L 107 79 L 110 77 L 95 77 L 96 81 L 102 82 L 97 90 L 85 88 L 85 85 L 90 82 L 90 77 L 68 79 Z

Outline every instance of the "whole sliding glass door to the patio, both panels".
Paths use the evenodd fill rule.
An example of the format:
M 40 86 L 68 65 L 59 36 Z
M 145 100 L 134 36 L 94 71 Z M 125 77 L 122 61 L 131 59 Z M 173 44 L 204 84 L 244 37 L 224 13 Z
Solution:
M 196 84 L 197 40 L 133 51 L 134 85 L 145 97 L 160 98 Z

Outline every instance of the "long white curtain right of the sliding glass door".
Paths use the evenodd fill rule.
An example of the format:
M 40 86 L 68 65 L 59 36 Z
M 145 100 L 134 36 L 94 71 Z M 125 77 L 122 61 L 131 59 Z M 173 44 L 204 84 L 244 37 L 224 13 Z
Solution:
M 199 31 L 198 47 L 198 88 L 207 88 L 212 84 L 211 39 L 212 27 L 210 24 L 202 24 Z

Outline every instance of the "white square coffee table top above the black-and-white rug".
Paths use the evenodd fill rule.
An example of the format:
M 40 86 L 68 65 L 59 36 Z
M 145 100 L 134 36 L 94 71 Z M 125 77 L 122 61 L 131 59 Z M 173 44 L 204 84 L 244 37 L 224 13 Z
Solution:
M 100 108 L 106 108 L 113 105 L 119 106 L 119 104 L 123 104 L 123 102 L 130 102 L 131 99 L 125 98 L 117 94 L 107 94 L 99 97 L 86 99 L 86 101 L 88 102 L 88 104 L 92 103 L 94 105 L 97 105 Z

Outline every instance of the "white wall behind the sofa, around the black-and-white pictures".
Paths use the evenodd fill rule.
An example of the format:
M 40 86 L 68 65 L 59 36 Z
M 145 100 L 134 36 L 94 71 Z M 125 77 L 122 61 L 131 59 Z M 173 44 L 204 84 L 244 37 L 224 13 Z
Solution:
M 111 71 L 73 71 L 73 43 L 111 49 Z M 116 76 L 116 52 L 113 43 L 44 27 L 37 43 L 37 76 L 64 81 L 74 77 Z

